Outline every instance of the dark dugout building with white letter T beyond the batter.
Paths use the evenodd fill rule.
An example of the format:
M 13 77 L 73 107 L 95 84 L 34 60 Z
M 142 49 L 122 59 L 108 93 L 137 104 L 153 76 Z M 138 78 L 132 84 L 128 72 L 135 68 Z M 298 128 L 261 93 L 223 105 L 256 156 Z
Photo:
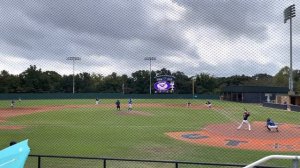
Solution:
M 226 86 L 222 97 L 223 100 L 244 103 L 275 102 L 277 94 L 287 94 L 288 91 L 287 87 Z

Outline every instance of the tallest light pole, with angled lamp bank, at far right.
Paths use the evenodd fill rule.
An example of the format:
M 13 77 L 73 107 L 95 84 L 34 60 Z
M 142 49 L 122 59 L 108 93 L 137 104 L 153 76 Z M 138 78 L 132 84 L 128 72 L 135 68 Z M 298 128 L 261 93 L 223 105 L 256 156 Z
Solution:
M 287 7 L 284 10 L 284 23 L 286 23 L 287 20 L 290 20 L 290 73 L 289 73 L 289 94 L 294 94 L 294 84 L 293 84 L 293 60 L 292 60 L 292 18 L 296 16 L 295 13 L 295 4 Z

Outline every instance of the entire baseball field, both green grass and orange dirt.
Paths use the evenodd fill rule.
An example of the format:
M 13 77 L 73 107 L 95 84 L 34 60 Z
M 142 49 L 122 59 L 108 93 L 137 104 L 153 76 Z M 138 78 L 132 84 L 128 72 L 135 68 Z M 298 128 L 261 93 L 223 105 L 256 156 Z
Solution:
M 29 139 L 31 155 L 63 155 L 126 159 L 249 164 L 274 154 L 300 152 L 300 113 L 212 100 L 133 99 L 133 110 L 121 99 L 22 100 L 14 108 L 0 101 L 0 147 Z M 236 128 L 243 112 L 251 115 L 248 127 Z M 264 126 L 270 117 L 279 132 Z M 298 135 L 299 134 L 299 135 Z M 299 138 L 299 139 L 298 139 Z M 48 159 L 43 167 L 99 167 L 96 161 Z M 291 161 L 273 161 L 289 167 Z M 27 160 L 26 167 L 36 166 Z M 111 162 L 108 167 L 172 167 L 168 164 Z M 182 166 L 197 167 L 197 166 Z M 198 166 L 200 167 L 200 166 Z M 203 166 L 201 166 L 203 167 Z

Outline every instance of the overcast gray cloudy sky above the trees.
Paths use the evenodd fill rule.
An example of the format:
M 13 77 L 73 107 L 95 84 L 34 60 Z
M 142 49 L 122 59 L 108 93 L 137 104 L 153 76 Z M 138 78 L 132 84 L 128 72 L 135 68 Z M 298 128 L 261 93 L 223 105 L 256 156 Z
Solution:
M 268 73 L 289 66 L 296 0 L 0 0 L 0 70 L 119 75 L 167 68 L 192 76 Z M 300 9 L 300 8 L 299 8 Z M 299 12 L 298 12 L 299 11 Z M 300 16 L 293 18 L 300 69 Z

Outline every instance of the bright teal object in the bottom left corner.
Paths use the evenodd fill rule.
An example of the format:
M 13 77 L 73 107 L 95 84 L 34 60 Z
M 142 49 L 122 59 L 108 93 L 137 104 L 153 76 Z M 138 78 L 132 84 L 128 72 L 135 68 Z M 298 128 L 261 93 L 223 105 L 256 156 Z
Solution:
M 0 168 L 23 168 L 30 148 L 28 139 L 0 151 Z

